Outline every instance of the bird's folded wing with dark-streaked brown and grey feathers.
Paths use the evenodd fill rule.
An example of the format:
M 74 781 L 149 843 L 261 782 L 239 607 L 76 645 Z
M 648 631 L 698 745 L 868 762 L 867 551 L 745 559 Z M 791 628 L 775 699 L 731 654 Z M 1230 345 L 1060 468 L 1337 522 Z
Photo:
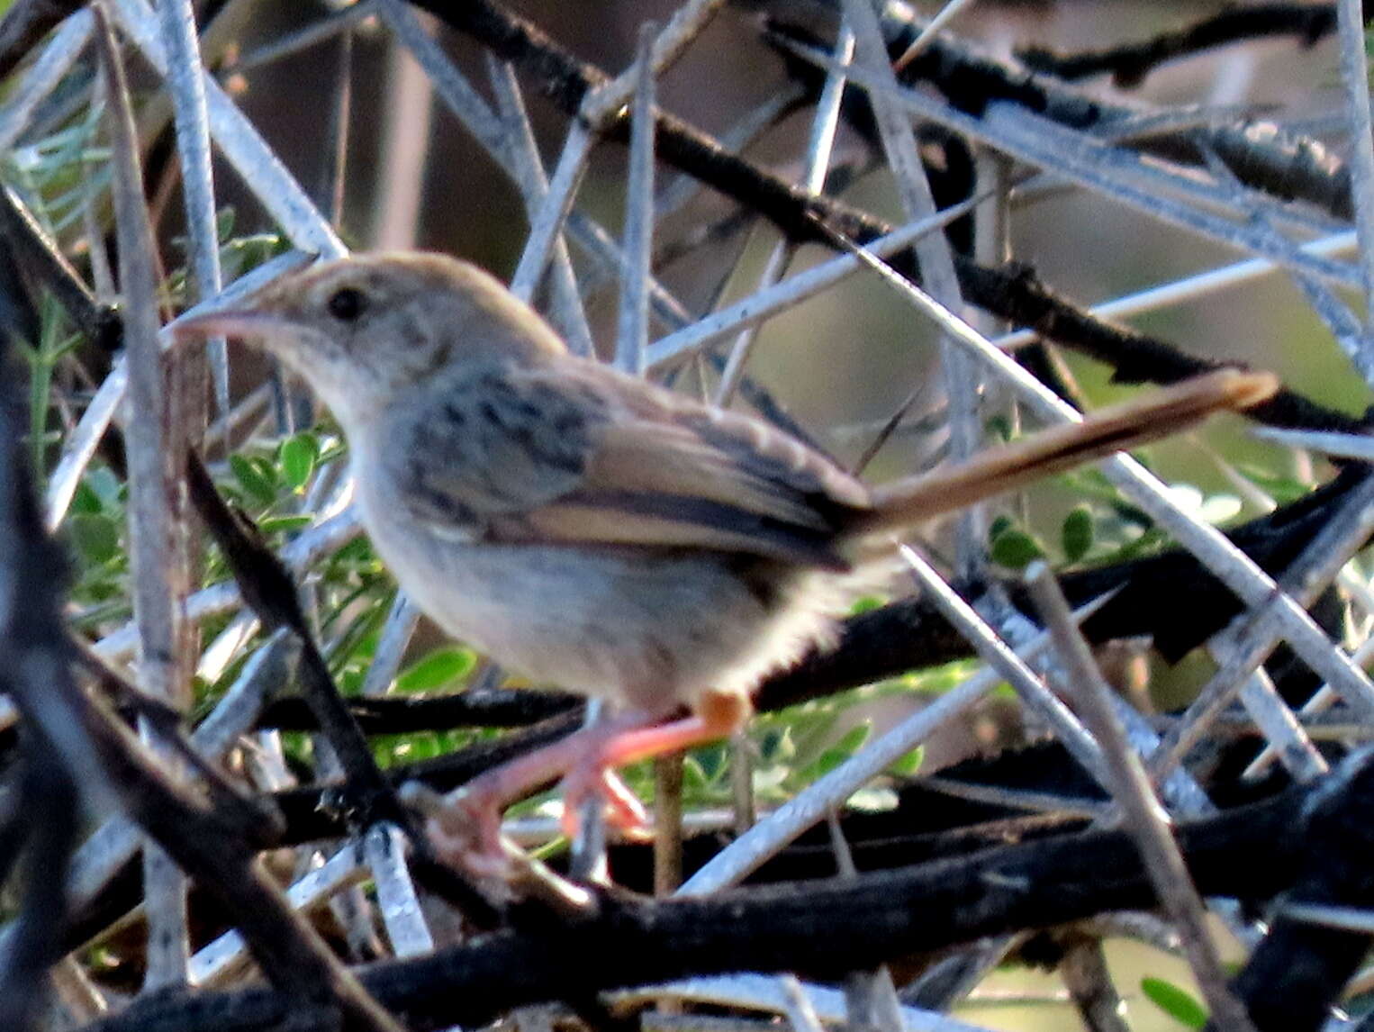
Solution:
M 473 540 L 842 568 L 835 535 L 867 504 L 857 481 L 791 438 L 589 364 L 469 377 L 405 425 L 403 496 L 434 530 Z

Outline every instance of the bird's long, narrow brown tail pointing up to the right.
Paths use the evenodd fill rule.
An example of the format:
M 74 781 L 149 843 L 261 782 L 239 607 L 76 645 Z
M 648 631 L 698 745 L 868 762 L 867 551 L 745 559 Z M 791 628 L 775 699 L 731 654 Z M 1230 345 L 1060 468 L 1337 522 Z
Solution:
M 1278 386 L 1278 379 L 1268 372 L 1217 370 L 1098 410 L 1079 423 L 1054 426 L 967 462 L 881 485 L 872 492 L 872 508 L 857 515 L 855 530 L 864 533 L 919 524 L 1187 430 L 1213 412 L 1250 408 L 1272 397 Z

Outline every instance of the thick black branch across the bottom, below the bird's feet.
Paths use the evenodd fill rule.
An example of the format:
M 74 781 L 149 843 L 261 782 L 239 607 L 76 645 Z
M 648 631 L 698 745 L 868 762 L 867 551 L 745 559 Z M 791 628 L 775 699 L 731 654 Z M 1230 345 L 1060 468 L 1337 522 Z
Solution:
M 1179 842 L 1204 895 L 1263 903 L 1309 870 L 1307 833 L 1320 822 L 1330 822 L 1320 834 L 1331 848 L 1363 844 L 1353 825 L 1370 805 L 1366 754 L 1315 786 L 1183 825 Z M 1254 863 L 1261 855 L 1265 863 Z M 1362 848 L 1344 855 L 1351 864 L 1364 856 Z M 522 1005 L 691 974 L 841 976 L 982 936 L 1154 903 L 1124 833 L 1081 831 L 849 879 L 666 901 L 607 895 L 585 921 L 484 936 L 422 959 L 374 965 L 361 978 L 414 1029 L 480 1025 Z M 1327 985 L 1344 977 L 1338 967 Z M 287 1005 L 264 989 L 150 1000 L 89 1032 L 227 1032 L 267 1022 Z

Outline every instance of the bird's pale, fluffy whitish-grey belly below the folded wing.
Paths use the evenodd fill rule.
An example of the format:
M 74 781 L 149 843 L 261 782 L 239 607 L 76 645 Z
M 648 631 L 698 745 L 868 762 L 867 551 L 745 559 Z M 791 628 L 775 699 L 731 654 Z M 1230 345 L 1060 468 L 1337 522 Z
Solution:
M 752 591 L 727 561 L 653 550 L 463 544 L 360 492 L 372 543 L 448 633 L 541 687 L 654 712 L 747 694 L 831 629 L 818 574 Z

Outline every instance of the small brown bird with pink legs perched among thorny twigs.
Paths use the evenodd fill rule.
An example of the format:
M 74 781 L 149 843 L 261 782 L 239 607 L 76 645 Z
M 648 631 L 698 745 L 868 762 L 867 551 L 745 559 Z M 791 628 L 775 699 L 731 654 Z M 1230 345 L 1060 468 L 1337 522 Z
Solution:
M 833 633 L 874 535 L 1276 386 L 1224 370 L 868 488 L 757 419 L 569 355 L 496 279 L 438 254 L 323 262 L 177 331 L 256 341 L 306 379 L 348 437 L 374 546 L 440 627 L 618 708 L 451 797 L 488 855 L 500 809 L 558 775 L 569 816 L 599 793 L 642 822 L 614 767 L 739 727 L 760 680 Z

